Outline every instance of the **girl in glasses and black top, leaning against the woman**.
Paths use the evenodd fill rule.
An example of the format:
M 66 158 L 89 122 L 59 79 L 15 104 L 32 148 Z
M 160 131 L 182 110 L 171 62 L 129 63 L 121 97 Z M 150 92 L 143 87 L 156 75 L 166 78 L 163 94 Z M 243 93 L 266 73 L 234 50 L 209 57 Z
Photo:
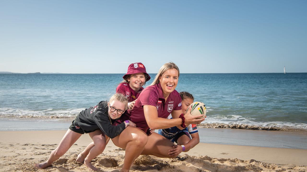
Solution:
M 82 110 L 72 122 L 72 125 L 67 130 L 58 147 L 51 152 L 49 159 L 46 162 L 35 164 L 34 166 L 39 169 L 50 166 L 54 161 L 64 155 L 82 134 L 89 133 L 94 144 L 91 145 L 91 148 L 88 150 L 89 152 L 86 154 L 87 156 L 83 160 L 84 165 L 89 170 L 96 171 L 97 168 L 91 164 L 91 160 L 103 152 L 109 139 L 119 135 L 128 125 L 135 126 L 129 120 L 117 126 L 112 125 L 122 116 L 127 108 L 128 99 L 122 94 L 115 94 L 109 102 L 101 101 L 95 106 Z M 78 157 L 82 159 L 81 154 Z M 81 163 L 83 163 L 83 160 Z

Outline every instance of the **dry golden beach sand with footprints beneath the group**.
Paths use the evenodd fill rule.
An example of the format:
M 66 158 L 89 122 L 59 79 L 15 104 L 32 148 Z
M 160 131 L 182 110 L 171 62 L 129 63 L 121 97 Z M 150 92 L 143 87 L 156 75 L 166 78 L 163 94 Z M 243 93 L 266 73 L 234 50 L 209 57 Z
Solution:
M 91 142 L 85 134 L 52 166 L 44 170 L 33 167 L 44 162 L 56 148 L 66 131 L 0 131 L 0 171 L 87 171 L 76 162 L 79 154 Z M 105 151 L 92 162 L 98 171 L 119 171 L 125 151 L 111 141 Z M 177 159 L 141 155 L 130 171 L 307 171 L 307 150 L 263 148 L 200 143 Z

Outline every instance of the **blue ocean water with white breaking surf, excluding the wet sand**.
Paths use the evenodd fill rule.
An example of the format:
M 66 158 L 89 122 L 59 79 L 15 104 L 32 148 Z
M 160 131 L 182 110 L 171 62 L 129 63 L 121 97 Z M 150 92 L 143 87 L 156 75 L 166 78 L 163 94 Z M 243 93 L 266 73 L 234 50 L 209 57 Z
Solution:
M 0 118 L 73 118 L 108 100 L 122 76 L 0 74 Z M 176 90 L 206 104 L 206 124 L 307 129 L 307 73 L 182 73 Z

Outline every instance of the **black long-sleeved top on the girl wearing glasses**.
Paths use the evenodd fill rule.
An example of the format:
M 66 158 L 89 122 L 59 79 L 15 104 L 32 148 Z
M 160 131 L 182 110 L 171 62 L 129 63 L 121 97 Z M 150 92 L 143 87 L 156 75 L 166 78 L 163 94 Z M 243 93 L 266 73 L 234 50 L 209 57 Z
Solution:
M 122 133 L 125 129 L 125 123 L 113 126 L 112 124 L 116 119 L 111 119 L 112 124 L 110 123 L 108 109 L 108 101 L 101 101 L 95 106 L 82 110 L 76 117 L 74 124 L 80 127 L 84 133 L 101 129 L 104 134 L 112 139 Z

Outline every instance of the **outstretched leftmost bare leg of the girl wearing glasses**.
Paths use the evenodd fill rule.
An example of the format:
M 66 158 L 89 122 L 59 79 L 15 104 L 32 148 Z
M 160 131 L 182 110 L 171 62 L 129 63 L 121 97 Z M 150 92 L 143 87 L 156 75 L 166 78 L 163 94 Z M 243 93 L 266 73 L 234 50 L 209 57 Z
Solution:
M 47 166 L 50 166 L 54 161 L 63 156 L 72 146 L 72 144 L 74 144 L 80 138 L 81 135 L 82 134 L 76 133 L 68 129 L 64 137 L 60 141 L 58 147 L 54 149 L 49 155 L 48 160 L 44 163 L 35 164 L 34 166 L 39 169 L 43 169 L 46 168 Z

